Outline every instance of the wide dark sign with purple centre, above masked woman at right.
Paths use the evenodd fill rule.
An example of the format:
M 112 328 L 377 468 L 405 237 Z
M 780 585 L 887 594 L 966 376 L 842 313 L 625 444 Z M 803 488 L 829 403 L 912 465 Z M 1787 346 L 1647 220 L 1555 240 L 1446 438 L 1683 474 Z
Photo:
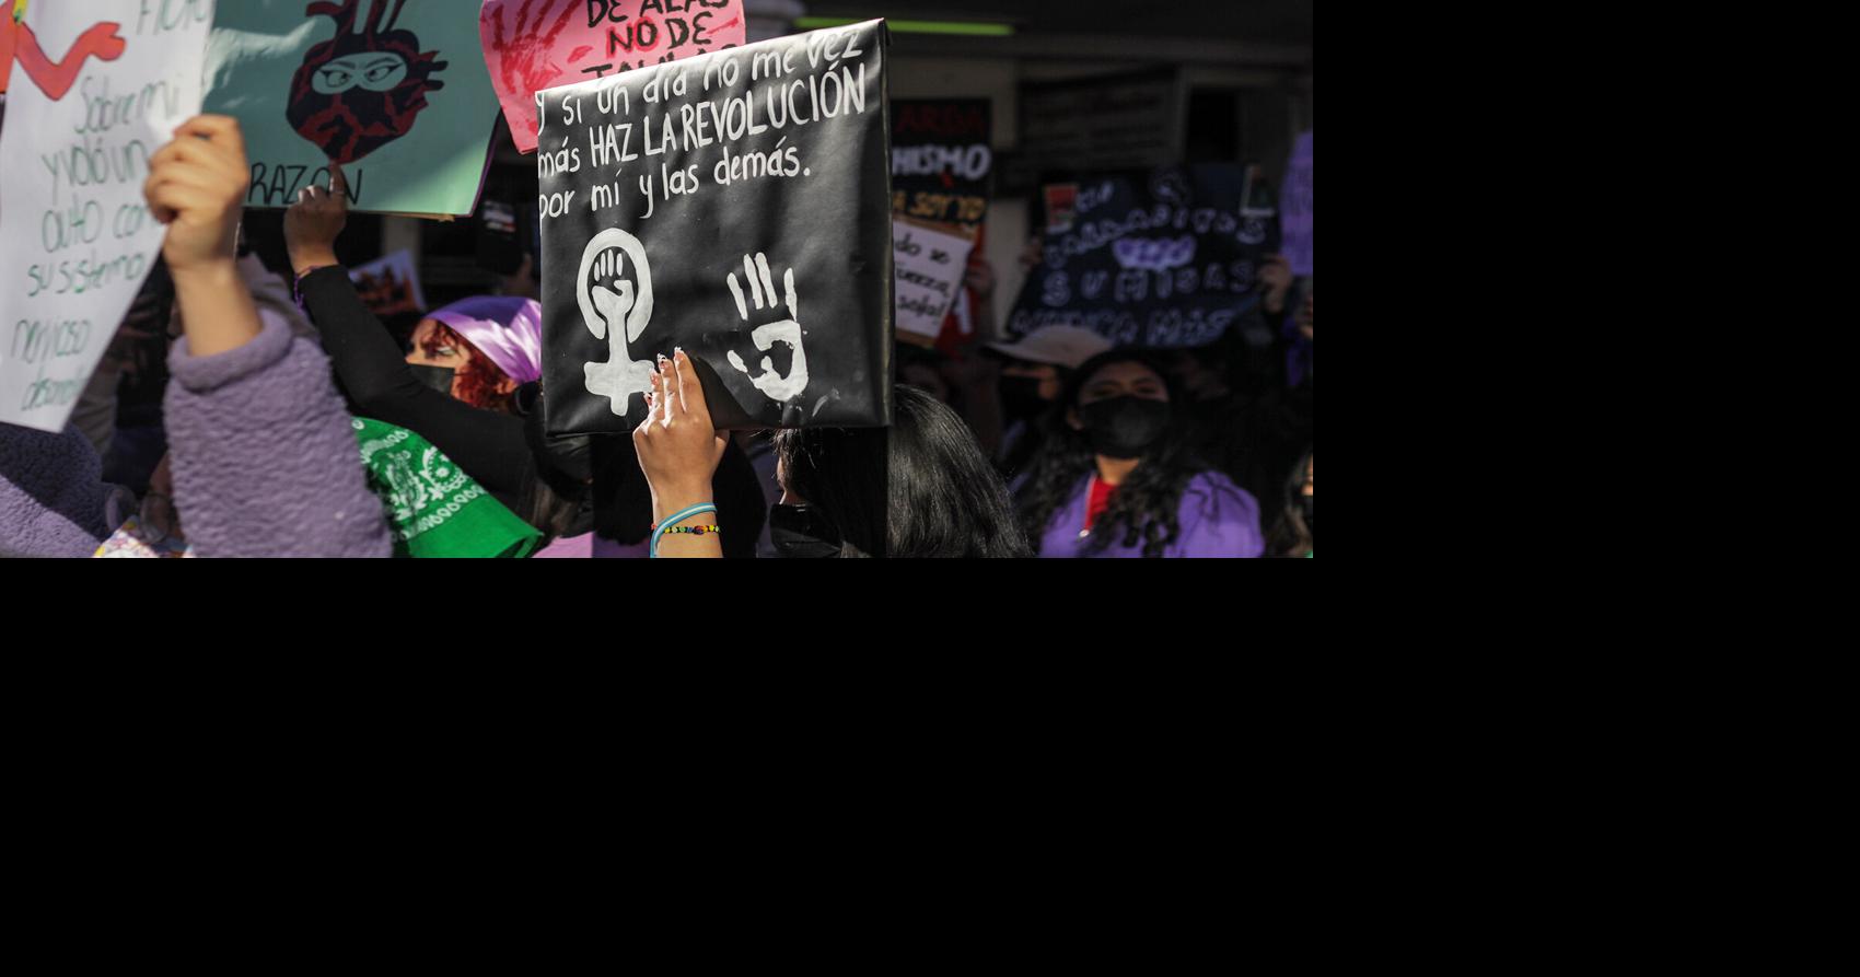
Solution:
M 1079 181 L 1071 225 L 1047 234 L 1008 331 L 1083 326 L 1120 346 L 1202 346 L 1252 311 L 1278 212 L 1233 164 Z

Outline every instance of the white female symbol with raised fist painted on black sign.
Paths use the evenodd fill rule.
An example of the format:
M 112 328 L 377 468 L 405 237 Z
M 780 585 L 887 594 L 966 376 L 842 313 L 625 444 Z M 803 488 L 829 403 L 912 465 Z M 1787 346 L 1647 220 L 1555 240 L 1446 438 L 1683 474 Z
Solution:
M 632 281 L 627 259 L 632 259 Z M 614 229 L 601 231 L 582 251 L 575 298 L 582 320 L 595 339 L 606 339 L 608 361 L 588 363 L 588 393 L 610 398 L 616 417 L 625 417 L 627 400 L 653 389 L 653 363 L 632 359 L 631 344 L 653 320 L 653 268 L 640 238 Z

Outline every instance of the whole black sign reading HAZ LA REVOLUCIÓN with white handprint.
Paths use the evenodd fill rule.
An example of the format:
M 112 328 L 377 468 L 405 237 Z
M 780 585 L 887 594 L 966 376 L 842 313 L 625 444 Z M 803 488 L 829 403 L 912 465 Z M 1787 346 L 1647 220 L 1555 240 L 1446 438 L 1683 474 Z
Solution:
M 631 432 L 653 361 L 720 428 L 891 422 L 884 20 L 538 95 L 551 434 Z

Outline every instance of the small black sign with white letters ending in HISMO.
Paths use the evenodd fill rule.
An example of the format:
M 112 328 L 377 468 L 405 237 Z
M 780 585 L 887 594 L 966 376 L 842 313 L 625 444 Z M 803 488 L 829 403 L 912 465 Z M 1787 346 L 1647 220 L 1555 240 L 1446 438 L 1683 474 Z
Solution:
M 988 99 L 891 100 L 891 208 L 898 218 L 976 227 L 995 167 Z

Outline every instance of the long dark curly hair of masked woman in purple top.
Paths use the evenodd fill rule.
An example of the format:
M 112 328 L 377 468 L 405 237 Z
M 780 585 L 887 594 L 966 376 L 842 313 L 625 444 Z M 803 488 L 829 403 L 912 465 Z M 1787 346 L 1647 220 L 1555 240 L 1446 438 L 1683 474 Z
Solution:
M 1097 469 L 1097 452 L 1084 432 L 1073 430 L 1066 415 L 1079 408 L 1079 393 L 1092 378 L 1112 363 L 1136 363 L 1155 372 L 1168 389 L 1170 422 L 1149 450 L 1144 452 L 1136 471 L 1118 486 L 1110 497 L 1110 508 L 1097 517 L 1092 536 L 1084 543 L 1084 553 L 1101 553 L 1112 540 L 1133 547 L 1142 543 L 1144 556 L 1161 558 L 1162 553 L 1181 536 L 1181 493 L 1189 482 L 1209 471 L 1196 452 L 1189 435 L 1189 404 L 1181 385 L 1162 368 L 1162 363 L 1144 350 L 1110 350 L 1086 359 L 1066 380 L 1066 391 L 1058 398 L 1058 408 L 1045 419 L 1045 439 L 1040 454 L 1034 456 L 1027 484 L 1021 486 L 1019 512 L 1021 525 L 1038 553 L 1042 536 L 1053 523 L 1053 514 L 1066 508 L 1079 495 L 1079 482 Z

